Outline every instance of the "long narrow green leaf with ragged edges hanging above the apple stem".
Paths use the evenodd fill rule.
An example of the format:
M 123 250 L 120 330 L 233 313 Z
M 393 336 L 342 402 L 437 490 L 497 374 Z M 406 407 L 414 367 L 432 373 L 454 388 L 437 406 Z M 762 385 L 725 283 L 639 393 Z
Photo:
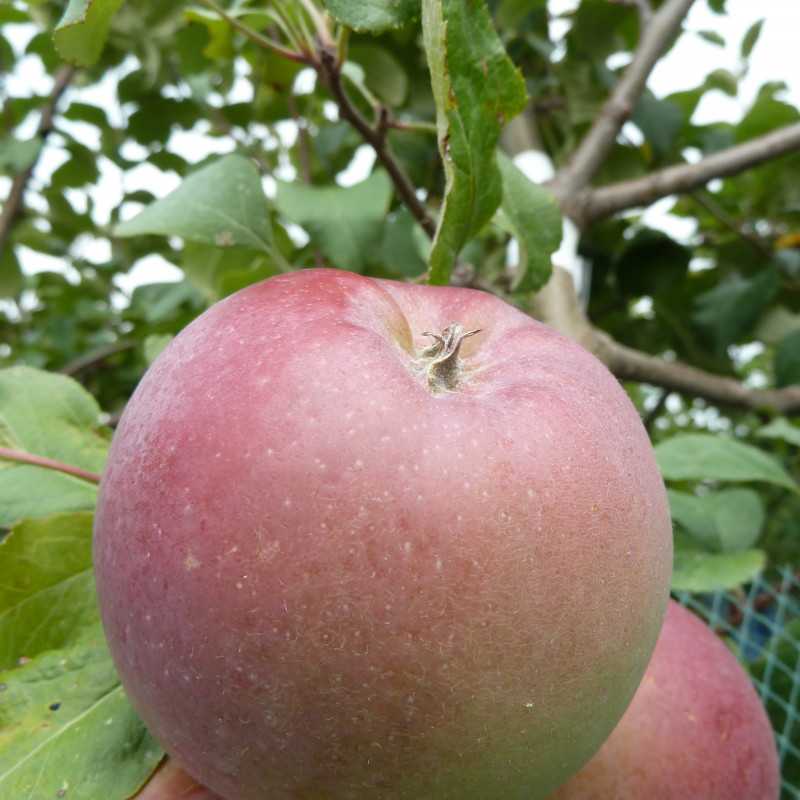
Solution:
M 461 248 L 500 205 L 495 149 L 527 96 L 484 0 L 423 0 L 422 29 L 445 171 L 430 281 L 446 284 Z

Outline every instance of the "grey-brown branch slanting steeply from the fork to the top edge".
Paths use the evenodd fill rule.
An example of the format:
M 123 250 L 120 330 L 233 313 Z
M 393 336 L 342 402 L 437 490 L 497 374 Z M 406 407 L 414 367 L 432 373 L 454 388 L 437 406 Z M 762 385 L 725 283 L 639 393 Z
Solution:
M 568 197 L 589 185 L 613 147 L 620 129 L 633 113 L 647 78 L 672 41 L 693 1 L 666 0 L 644 29 L 633 61 L 567 165 L 556 175 L 552 188 L 559 197 Z

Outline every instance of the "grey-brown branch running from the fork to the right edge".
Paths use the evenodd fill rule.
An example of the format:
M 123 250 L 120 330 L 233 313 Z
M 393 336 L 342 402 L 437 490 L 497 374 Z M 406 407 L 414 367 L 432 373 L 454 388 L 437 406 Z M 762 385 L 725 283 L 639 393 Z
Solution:
M 579 194 L 568 203 L 584 224 L 627 208 L 648 205 L 661 197 L 689 192 L 713 178 L 736 175 L 778 156 L 800 150 L 800 122 L 728 147 L 696 164 L 680 164 L 644 178 L 603 186 Z

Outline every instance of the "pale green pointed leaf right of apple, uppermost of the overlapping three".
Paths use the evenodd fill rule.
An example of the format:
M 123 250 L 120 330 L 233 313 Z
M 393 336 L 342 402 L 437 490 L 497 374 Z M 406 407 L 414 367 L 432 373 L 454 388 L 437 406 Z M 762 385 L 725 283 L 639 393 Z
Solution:
M 797 484 L 772 456 L 722 435 L 684 433 L 655 448 L 666 480 L 763 481 L 797 491 Z

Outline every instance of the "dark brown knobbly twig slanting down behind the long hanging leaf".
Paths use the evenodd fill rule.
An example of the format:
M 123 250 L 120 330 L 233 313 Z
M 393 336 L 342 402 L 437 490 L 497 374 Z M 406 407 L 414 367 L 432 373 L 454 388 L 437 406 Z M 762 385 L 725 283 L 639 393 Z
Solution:
M 336 54 L 327 49 L 321 50 L 317 70 L 339 107 L 339 115 L 349 122 L 361 134 L 364 141 L 372 147 L 378 160 L 389 173 L 397 193 L 425 233 L 432 239 L 436 234 L 436 223 L 433 221 L 433 217 L 428 214 L 427 208 L 417 197 L 414 186 L 394 157 L 386 140 L 385 132 L 381 130 L 380 121 L 373 128 L 347 96 L 347 92 L 342 85 L 340 65 L 336 60 Z

